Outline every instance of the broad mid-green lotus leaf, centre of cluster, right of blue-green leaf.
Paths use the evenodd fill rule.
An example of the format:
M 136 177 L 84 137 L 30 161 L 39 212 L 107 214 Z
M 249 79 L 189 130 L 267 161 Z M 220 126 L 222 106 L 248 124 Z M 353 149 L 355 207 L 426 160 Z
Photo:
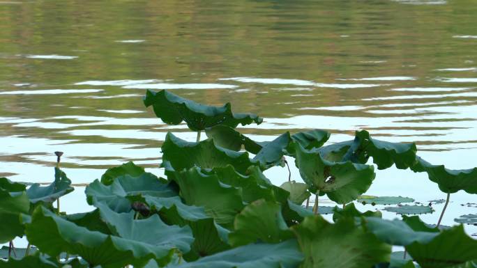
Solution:
M 222 225 L 232 225 L 244 207 L 241 190 L 220 182 L 217 175 L 206 175 L 199 168 L 176 171 L 173 180 L 187 205 L 204 207 L 206 214 Z

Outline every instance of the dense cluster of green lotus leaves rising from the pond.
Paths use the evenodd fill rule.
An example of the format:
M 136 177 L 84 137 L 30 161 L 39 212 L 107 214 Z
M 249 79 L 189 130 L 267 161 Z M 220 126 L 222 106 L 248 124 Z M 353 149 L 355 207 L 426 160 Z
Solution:
M 256 142 L 234 127 L 261 123 L 258 116 L 165 90 L 148 90 L 144 104 L 165 123 L 185 121 L 209 139 L 200 141 L 198 134 L 194 143 L 168 133 L 161 148 L 167 178 L 132 162 L 109 168 L 86 187 L 86 200 L 96 207 L 91 212 L 66 214 L 59 202 L 54 207 L 73 191 L 59 164 L 46 187 L 0 178 L 0 242 L 10 242 L 0 249 L 6 259 L 0 268 L 476 267 L 477 241 L 462 224 L 440 226 L 450 194 L 477 194 L 476 168 L 435 166 L 416 155 L 414 143 L 379 141 L 365 131 L 331 145 L 324 145 L 330 134 L 319 129 Z M 263 171 L 282 166 L 285 156 L 295 159 L 304 183 L 278 187 L 266 178 Z M 437 226 L 418 216 L 390 221 L 379 211 L 356 210 L 354 201 L 398 205 L 386 210 L 400 214 L 432 212 L 430 206 L 400 205 L 411 198 L 363 196 L 375 177 L 370 157 L 378 169 L 410 168 L 438 184 L 447 199 Z M 325 194 L 340 207 L 319 206 Z M 333 214 L 333 223 L 320 214 Z M 29 246 L 15 249 L 11 241 L 22 236 Z M 391 246 L 406 252 L 392 253 Z

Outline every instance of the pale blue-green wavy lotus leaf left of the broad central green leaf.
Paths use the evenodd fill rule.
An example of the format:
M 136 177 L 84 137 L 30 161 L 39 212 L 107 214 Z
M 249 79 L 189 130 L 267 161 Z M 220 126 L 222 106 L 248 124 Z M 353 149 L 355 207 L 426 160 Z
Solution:
M 123 175 L 115 178 L 110 185 L 105 185 L 95 180 L 86 187 L 84 193 L 90 205 L 94 201 L 106 203 L 109 208 L 116 212 L 129 212 L 131 203 L 127 196 L 176 196 L 177 193 L 169 184 L 151 173 L 142 173 L 137 178 Z

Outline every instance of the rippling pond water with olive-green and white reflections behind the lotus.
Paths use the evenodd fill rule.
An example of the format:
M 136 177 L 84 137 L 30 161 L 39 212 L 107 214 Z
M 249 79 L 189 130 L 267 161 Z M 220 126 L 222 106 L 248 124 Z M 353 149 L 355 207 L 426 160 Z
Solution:
M 367 129 L 416 141 L 433 164 L 471 168 L 476 25 L 473 0 L 0 1 L 0 176 L 49 182 L 56 150 L 75 183 L 129 160 L 161 174 L 166 132 L 195 133 L 146 109 L 146 88 L 257 113 L 262 125 L 239 129 L 258 140 L 319 128 L 335 142 Z M 63 209 L 89 210 L 83 190 Z M 445 198 L 426 175 L 395 168 L 367 194 Z M 477 213 L 462 206 L 476 196 L 451 201 L 444 224 Z

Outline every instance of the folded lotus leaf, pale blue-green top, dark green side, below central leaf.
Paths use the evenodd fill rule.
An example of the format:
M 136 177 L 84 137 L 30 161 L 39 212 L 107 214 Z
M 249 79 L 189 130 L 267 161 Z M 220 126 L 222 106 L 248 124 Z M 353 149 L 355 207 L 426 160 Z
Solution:
M 208 216 L 204 207 L 185 205 L 179 196 L 130 196 L 132 202 L 141 202 L 149 206 L 151 212 L 158 212 L 165 223 L 190 226 L 194 235 L 192 250 L 184 256 L 186 260 L 212 255 L 230 248 L 227 244 L 229 231 L 219 226 Z

